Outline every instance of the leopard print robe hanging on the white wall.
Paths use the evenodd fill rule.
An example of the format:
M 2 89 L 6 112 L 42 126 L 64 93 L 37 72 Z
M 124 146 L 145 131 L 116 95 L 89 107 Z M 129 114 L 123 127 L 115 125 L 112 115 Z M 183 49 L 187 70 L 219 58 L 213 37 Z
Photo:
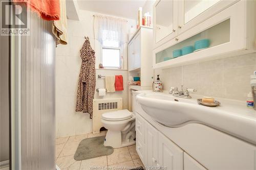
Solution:
M 80 50 L 82 59 L 76 97 L 76 111 L 93 115 L 93 99 L 96 86 L 95 52 L 91 47 L 89 38 L 83 43 Z

